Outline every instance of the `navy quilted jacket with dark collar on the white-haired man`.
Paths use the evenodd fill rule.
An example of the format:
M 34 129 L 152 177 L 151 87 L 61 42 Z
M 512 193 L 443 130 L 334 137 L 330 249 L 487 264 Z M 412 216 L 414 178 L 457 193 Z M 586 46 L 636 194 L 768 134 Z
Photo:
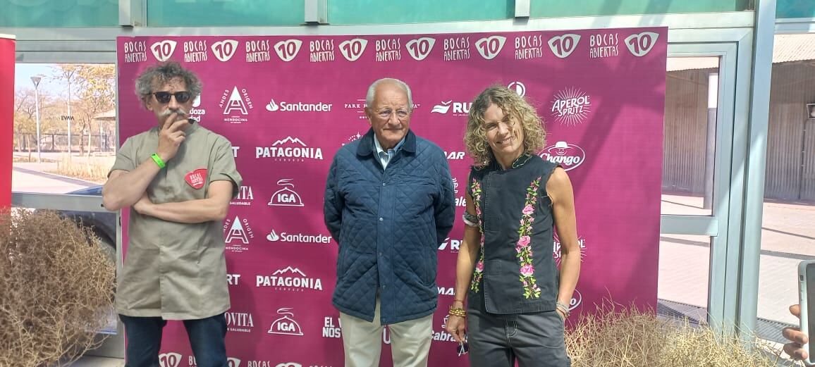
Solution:
M 333 304 L 381 323 L 425 317 L 436 309 L 438 245 L 455 219 L 444 152 L 412 131 L 383 170 L 373 130 L 334 156 L 325 187 L 325 225 L 340 245 Z

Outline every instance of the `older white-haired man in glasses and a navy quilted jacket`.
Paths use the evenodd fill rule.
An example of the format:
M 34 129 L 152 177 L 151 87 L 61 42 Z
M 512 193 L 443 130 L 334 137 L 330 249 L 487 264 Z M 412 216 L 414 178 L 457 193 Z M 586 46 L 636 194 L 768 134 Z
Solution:
M 436 309 L 438 245 L 455 216 L 444 152 L 410 131 L 410 88 L 380 79 L 368 88 L 363 138 L 334 156 L 325 225 L 340 245 L 333 304 L 347 367 L 376 367 L 389 325 L 395 367 L 427 365 Z

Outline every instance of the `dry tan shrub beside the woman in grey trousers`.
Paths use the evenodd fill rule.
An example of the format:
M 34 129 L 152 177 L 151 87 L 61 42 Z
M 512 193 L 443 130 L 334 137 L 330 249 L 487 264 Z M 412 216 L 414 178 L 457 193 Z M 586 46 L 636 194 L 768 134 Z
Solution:
M 572 367 L 776 367 L 778 348 L 723 335 L 708 325 L 665 320 L 654 312 L 604 302 L 566 331 Z

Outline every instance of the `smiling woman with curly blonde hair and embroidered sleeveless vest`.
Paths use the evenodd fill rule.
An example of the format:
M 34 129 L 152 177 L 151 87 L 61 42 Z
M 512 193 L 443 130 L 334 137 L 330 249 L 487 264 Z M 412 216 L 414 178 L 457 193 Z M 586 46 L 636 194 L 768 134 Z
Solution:
M 566 171 L 536 155 L 545 138 L 535 109 L 506 87 L 487 88 L 470 107 L 464 140 L 475 164 L 447 332 L 467 338 L 476 367 L 571 364 L 563 322 L 580 273 L 575 202 Z

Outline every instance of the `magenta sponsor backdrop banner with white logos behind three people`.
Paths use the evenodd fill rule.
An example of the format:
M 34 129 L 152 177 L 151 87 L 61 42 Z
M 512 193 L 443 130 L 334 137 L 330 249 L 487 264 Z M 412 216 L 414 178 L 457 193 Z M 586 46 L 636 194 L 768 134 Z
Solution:
M 232 142 L 245 179 L 223 225 L 232 367 L 343 365 L 325 178 L 336 151 L 368 131 L 365 94 L 385 76 L 411 86 L 411 129 L 443 148 L 456 187 L 456 225 L 438 247 L 430 365 L 468 365 L 444 323 L 464 229 L 467 112 L 489 85 L 537 108 L 548 130 L 540 156 L 574 185 L 583 272 L 573 312 L 607 297 L 656 305 L 667 28 L 117 42 L 121 142 L 156 124 L 134 80 L 167 60 L 198 73 L 192 117 Z M 559 247 L 556 238 L 556 260 Z M 382 352 L 391 365 L 390 347 Z M 181 323 L 167 326 L 161 353 L 164 367 L 196 365 Z

